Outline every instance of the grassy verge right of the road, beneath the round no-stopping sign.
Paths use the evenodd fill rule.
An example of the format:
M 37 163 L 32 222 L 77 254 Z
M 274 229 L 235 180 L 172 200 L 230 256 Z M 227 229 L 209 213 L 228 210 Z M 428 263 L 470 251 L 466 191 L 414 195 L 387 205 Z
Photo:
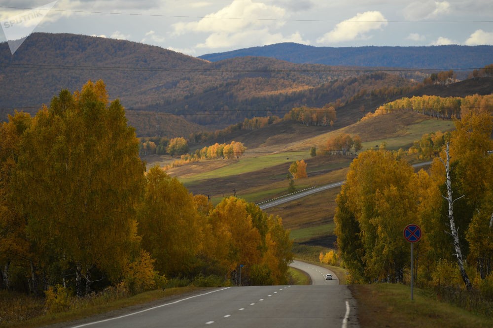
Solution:
M 362 328 L 493 327 L 493 318 L 441 302 L 421 289 L 415 288 L 414 300 L 411 300 L 410 287 L 402 284 L 352 285 L 350 289 L 357 301 Z

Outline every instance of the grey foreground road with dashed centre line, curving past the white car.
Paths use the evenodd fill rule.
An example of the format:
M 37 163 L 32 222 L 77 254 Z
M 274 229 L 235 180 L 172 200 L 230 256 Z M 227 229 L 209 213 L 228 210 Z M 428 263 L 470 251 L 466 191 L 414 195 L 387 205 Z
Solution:
M 207 289 L 193 296 L 72 328 L 355 328 L 356 303 L 328 269 L 294 261 L 312 278 L 305 286 Z M 325 280 L 332 273 L 334 280 Z

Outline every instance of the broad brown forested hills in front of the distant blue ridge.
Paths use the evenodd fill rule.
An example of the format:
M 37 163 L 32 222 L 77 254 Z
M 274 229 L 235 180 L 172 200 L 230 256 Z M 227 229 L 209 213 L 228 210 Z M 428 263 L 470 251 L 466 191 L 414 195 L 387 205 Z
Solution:
M 127 110 L 183 115 L 221 127 L 245 117 L 279 115 L 293 106 L 346 101 L 361 88 L 411 86 L 425 73 L 373 80 L 361 67 L 293 64 L 244 57 L 211 63 L 160 47 L 68 33 L 33 33 L 11 55 L 0 43 L 0 119 L 14 109 L 31 113 L 61 89 L 103 79 L 109 98 Z M 362 82 L 354 78 L 362 77 Z M 388 79 L 388 80 L 387 80 Z

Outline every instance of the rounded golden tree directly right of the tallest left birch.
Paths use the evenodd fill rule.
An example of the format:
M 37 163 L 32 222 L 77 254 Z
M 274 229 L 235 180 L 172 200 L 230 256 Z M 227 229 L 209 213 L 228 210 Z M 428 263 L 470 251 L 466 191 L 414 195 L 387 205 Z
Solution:
M 202 240 L 199 219 L 194 198 L 178 179 L 158 166 L 149 169 L 139 207 L 139 234 L 161 274 L 190 275 Z

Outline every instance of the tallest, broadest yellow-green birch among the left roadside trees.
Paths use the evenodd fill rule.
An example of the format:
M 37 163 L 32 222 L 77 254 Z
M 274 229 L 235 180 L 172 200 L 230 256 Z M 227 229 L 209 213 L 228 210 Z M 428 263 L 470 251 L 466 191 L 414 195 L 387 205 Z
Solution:
M 16 207 L 42 255 L 31 267 L 58 267 L 59 276 L 50 277 L 55 282 L 70 270 L 77 295 L 103 277 L 121 279 L 138 247 L 135 208 L 144 165 L 120 102 L 108 101 L 101 80 L 73 95 L 62 90 L 36 114 L 21 148 Z

